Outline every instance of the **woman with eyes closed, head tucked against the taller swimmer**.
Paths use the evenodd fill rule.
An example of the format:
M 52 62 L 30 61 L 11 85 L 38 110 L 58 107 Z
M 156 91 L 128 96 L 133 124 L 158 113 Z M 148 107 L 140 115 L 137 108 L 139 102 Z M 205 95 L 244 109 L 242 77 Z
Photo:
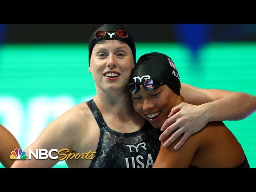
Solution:
M 158 52 L 139 58 L 128 88 L 136 112 L 157 129 L 168 118 L 170 109 L 184 101 L 174 62 Z M 166 140 L 161 144 L 154 168 L 250 167 L 242 146 L 222 122 L 209 122 L 200 132 L 190 136 L 179 150 L 173 149 L 178 141 L 164 147 Z

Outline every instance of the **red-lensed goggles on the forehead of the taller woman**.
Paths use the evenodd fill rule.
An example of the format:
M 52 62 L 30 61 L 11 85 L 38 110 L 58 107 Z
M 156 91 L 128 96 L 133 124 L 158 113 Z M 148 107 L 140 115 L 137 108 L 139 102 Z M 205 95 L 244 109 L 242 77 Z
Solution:
M 125 30 L 118 30 L 116 32 L 106 32 L 100 30 L 95 33 L 94 43 L 96 44 L 100 41 L 110 38 L 124 41 L 125 39 L 128 39 L 128 33 Z

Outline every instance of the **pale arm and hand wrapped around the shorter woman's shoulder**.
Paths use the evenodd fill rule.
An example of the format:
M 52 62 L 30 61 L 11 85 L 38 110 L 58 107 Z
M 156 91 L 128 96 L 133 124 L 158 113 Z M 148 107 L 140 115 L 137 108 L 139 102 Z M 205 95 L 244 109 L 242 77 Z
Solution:
M 180 94 L 184 102 L 172 108 L 168 119 L 162 125 L 163 133 L 159 137 L 162 141 L 178 128 L 164 144 L 169 146 L 176 138 L 184 134 L 175 146 L 176 150 L 208 122 L 241 120 L 256 110 L 256 98 L 242 92 L 200 89 L 182 83 Z

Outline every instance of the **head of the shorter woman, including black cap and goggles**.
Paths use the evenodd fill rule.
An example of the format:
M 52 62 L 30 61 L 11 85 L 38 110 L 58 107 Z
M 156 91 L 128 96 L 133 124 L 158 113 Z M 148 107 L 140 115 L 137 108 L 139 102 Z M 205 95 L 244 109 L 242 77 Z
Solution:
M 141 56 L 132 70 L 130 82 L 128 88 L 134 109 L 146 116 L 154 128 L 161 128 L 172 107 L 182 102 L 178 71 L 172 59 L 164 54 L 153 52 Z M 163 87 L 169 87 L 172 92 L 161 94 Z

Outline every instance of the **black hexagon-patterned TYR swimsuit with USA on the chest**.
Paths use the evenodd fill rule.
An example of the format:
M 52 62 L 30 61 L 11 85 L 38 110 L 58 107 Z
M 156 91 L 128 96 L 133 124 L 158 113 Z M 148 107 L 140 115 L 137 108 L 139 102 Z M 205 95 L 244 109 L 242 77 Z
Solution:
M 146 121 L 136 132 L 116 132 L 107 126 L 93 100 L 86 103 L 100 128 L 96 157 L 90 168 L 152 168 L 160 150 L 160 129 Z

